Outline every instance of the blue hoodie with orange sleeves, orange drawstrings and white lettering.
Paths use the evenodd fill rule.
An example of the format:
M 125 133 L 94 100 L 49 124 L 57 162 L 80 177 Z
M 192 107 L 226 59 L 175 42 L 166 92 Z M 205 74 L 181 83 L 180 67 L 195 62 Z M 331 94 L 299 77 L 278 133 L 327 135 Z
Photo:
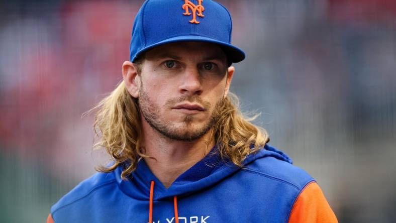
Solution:
M 210 153 L 169 188 L 144 160 L 129 180 L 122 170 L 82 181 L 52 206 L 47 223 L 337 222 L 316 181 L 269 145 L 243 168 Z

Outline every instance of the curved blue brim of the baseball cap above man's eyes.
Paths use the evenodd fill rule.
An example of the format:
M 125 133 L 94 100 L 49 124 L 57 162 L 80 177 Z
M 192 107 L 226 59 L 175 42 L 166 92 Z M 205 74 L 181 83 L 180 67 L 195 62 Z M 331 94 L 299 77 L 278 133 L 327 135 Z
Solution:
M 177 37 L 169 38 L 169 39 L 162 40 L 160 42 L 151 44 L 149 46 L 146 46 L 145 48 L 139 50 L 136 53 L 135 57 L 132 59 L 132 62 L 134 62 L 142 53 L 144 53 L 154 47 L 168 44 L 168 43 L 186 42 L 186 41 L 208 42 L 208 43 L 215 43 L 215 44 L 220 45 L 220 47 L 226 53 L 226 56 L 227 56 L 230 64 L 241 62 L 246 57 L 245 53 L 241 49 L 239 49 L 238 47 L 233 46 L 229 43 L 221 42 L 221 41 L 211 39 L 208 37 L 189 35 L 189 36 L 177 36 Z

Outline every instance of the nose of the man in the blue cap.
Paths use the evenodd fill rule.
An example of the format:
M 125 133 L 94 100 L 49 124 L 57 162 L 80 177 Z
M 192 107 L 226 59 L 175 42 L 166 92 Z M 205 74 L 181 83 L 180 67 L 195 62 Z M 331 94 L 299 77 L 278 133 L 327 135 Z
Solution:
M 186 68 L 182 74 L 179 92 L 189 95 L 200 95 L 202 93 L 202 78 L 198 68 Z

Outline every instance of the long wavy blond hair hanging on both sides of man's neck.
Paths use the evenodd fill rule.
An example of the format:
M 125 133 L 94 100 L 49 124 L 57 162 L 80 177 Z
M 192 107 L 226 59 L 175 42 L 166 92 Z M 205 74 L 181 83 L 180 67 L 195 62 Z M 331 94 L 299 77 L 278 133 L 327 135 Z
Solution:
M 132 97 L 124 82 L 121 82 L 94 109 L 97 113 L 93 128 L 98 137 L 94 147 L 105 148 L 114 160 L 113 165 L 98 166 L 96 169 L 111 172 L 120 164 L 127 163 L 121 174 L 126 179 L 136 169 L 138 161 L 147 157 L 140 146 L 142 132 L 137 98 Z M 248 155 L 257 152 L 269 141 L 264 129 L 250 123 L 256 117 L 244 117 L 235 94 L 229 93 L 224 99 L 219 119 L 212 129 L 223 160 L 230 160 L 242 167 Z

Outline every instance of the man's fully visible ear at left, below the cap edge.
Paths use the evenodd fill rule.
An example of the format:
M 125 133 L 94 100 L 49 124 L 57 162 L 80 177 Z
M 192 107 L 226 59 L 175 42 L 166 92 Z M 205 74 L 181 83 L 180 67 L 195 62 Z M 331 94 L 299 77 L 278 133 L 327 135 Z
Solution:
M 138 98 L 141 80 L 137 73 L 136 64 L 131 61 L 125 61 L 123 63 L 123 78 L 125 88 L 127 88 L 132 97 Z

